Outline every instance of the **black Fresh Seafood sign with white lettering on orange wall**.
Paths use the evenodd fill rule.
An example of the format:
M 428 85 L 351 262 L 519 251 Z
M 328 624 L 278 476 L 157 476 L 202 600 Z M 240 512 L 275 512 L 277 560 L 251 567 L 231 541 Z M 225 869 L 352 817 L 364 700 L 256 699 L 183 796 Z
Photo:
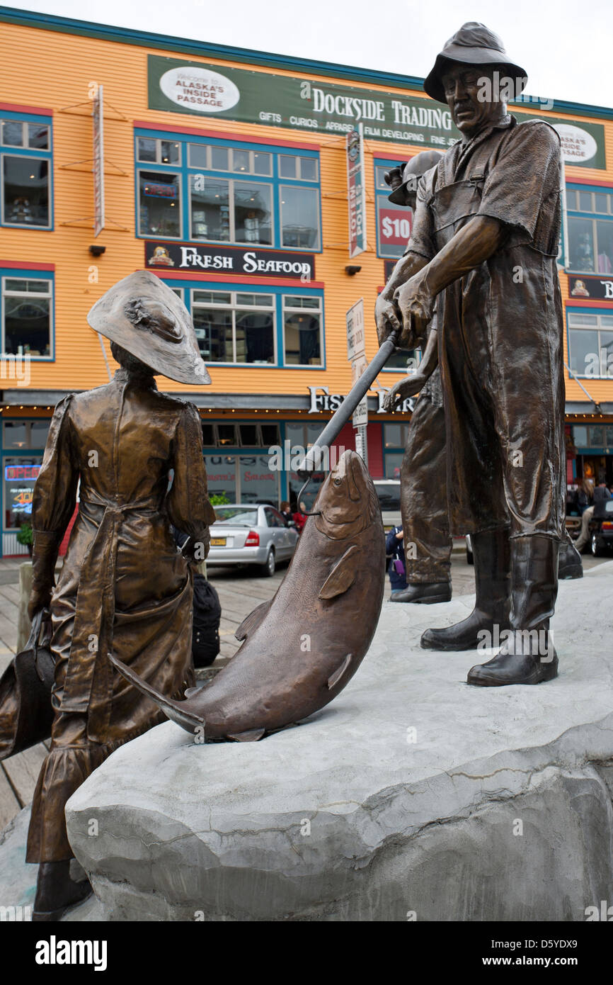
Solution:
M 303 284 L 315 280 L 312 253 L 289 253 L 276 249 L 217 246 L 215 243 L 160 243 L 145 240 L 145 266 L 155 270 L 208 270 L 215 274 L 251 274 L 281 277 Z

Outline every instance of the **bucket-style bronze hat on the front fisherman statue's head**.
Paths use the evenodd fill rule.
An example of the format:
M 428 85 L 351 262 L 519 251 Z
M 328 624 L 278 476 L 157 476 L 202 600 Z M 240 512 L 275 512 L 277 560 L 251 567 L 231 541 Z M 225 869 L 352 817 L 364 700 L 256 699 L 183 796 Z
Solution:
M 515 82 L 515 93 L 519 96 L 527 82 L 527 73 L 512 61 L 505 46 L 493 31 L 484 24 L 469 21 L 462 24 L 443 50 L 437 55 L 434 68 L 423 84 L 423 88 L 437 102 L 447 102 L 443 88 L 443 73 L 447 62 L 460 62 L 462 65 L 496 65 Z

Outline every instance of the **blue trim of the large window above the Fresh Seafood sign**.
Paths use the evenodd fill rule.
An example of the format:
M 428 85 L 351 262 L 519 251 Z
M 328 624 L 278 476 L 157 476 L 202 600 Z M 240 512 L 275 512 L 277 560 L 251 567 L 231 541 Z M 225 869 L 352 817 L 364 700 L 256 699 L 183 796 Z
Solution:
M 175 144 L 181 144 L 181 164 L 156 164 L 154 162 L 145 162 L 138 160 L 138 139 L 139 137 L 145 137 L 150 140 L 168 140 L 174 142 Z M 272 189 L 271 202 L 273 206 L 273 242 L 270 245 L 265 243 L 236 243 L 230 242 L 229 240 L 218 240 L 218 239 L 191 239 L 189 236 L 190 232 L 190 216 L 189 216 L 189 175 L 202 173 L 202 168 L 191 167 L 188 164 L 188 144 L 203 144 L 205 146 L 212 147 L 236 147 L 237 141 L 231 138 L 221 138 L 202 136 L 198 133 L 187 134 L 187 133 L 173 133 L 168 130 L 148 130 L 145 127 L 135 127 L 134 128 L 134 221 L 137 239 L 151 239 L 152 233 L 141 233 L 140 232 L 140 215 L 139 215 L 139 171 L 159 171 L 166 174 L 180 174 L 181 176 L 181 235 L 180 236 L 156 236 L 156 239 L 160 239 L 168 242 L 190 242 L 190 243 L 212 243 L 214 245 L 220 246 L 245 246 L 252 245 L 258 246 L 260 249 L 281 249 L 287 250 L 289 252 L 302 252 L 302 253 L 322 253 L 323 252 L 323 231 L 322 231 L 322 188 L 321 188 L 321 160 L 319 150 L 306 151 L 295 147 L 281 147 L 278 144 L 267 144 L 267 143 L 257 143 L 253 141 L 240 141 L 239 147 L 241 151 L 262 151 L 267 154 L 272 155 L 273 159 L 273 173 L 272 175 L 267 174 L 243 174 L 238 171 L 215 171 L 206 170 L 205 173 L 212 178 L 224 178 L 225 180 L 233 179 L 240 181 L 255 181 L 259 184 L 270 184 Z M 280 177 L 278 173 L 278 158 L 279 156 L 288 156 L 294 158 L 314 158 L 318 162 L 318 179 L 317 181 L 306 181 L 304 178 L 284 178 Z M 293 185 L 298 188 L 314 188 L 318 192 L 319 199 L 319 243 L 317 249 L 312 247 L 304 246 L 284 246 L 281 243 L 281 230 L 280 230 L 280 186 L 281 185 Z

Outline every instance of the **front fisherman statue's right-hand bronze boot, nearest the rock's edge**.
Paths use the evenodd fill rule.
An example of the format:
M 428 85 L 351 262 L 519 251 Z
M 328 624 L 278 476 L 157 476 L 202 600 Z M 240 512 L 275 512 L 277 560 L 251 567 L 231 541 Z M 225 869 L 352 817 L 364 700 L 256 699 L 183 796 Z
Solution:
M 558 594 L 559 547 L 559 541 L 542 534 L 512 540 L 511 633 L 492 660 L 468 672 L 468 684 L 500 688 L 541 684 L 558 676 L 549 620 Z

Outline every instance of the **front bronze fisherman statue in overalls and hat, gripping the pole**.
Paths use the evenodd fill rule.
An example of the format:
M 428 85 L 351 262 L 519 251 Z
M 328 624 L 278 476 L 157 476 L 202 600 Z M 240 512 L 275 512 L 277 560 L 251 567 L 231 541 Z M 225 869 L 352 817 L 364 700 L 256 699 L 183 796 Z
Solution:
M 464 25 L 438 55 L 424 88 L 461 139 L 425 176 L 403 283 L 378 309 L 380 340 L 399 321 L 408 348 L 437 302 L 450 525 L 472 535 L 476 602 L 421 642 L 472 649 L 506 630 L 468 674 L 486 687 L 557 675 L 549 620 L 564 525 L 560 140 L 508 113 L 501 80 L 518 96 L 526 76 L 483 25 Z

